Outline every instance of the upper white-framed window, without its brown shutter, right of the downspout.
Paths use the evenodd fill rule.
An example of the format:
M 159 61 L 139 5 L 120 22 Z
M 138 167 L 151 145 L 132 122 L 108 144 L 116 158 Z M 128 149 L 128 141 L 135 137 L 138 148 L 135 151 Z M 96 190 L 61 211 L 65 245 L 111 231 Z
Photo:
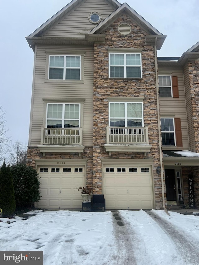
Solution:
M 171 75 L 159 75 L 158 81 L 160 97 L 173 97 Z

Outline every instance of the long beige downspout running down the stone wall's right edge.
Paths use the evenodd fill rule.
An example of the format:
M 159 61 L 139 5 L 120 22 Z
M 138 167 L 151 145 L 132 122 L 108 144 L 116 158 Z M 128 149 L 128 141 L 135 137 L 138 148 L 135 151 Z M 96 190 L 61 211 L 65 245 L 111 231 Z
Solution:
M 160 109 L 159 109 L 159 93 L 158 93 L 158 67 L 157 67 L 157 37 L 155 38 L 155 78 L 156 78 L 156 96 L 157 96 L 157 113 L 158 113 L 158 138 L 159 138 L 159 149 L 160 149 L 160 167 L 161 167 L 161 184 L 162 184 L 162 203 L 163 209 L 168 214 L 169 212 L 165 208 L 165 199 L 164 199 L 164 176 L 163 176 L 163 163 L 162 163 L 162 143 L 161 143 L 161 130 L 160 130 Z

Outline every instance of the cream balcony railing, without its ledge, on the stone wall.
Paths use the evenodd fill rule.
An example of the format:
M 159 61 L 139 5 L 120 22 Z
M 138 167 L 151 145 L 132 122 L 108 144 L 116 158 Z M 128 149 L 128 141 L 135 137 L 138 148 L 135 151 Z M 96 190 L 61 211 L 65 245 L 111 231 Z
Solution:
M 106 127 L 107 144 L 149 144 L 148 127 Z

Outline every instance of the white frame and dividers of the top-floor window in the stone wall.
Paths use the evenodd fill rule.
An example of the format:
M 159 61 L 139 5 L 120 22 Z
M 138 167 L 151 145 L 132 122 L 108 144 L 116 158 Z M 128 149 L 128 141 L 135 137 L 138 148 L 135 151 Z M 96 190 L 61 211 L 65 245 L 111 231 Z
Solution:
M 124 65 L 110 65 L 110 54 L 123 54 L 124 55 Z M 127 54 L 139 54 L 140 55 L 140 65 L 127 65 L 126 55 Z M 124 66 L 124 77 L 110 77 L 110 66 Z M 140 67 L 140 77 L 127 77 L 127 66 Z M 109 78 L 117 79 L 141 79 L 142 78 L 142 56 L 141 53 L 121 53 L 121 52 L 109 52 Z

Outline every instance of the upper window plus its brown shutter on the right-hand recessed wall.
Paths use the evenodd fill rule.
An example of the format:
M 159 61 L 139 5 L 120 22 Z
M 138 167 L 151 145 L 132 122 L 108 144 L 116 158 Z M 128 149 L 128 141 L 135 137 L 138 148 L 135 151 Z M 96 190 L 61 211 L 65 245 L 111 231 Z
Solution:
M 178 77 L 171 75 L 159 75 L 160 97 L 178 98 Z

